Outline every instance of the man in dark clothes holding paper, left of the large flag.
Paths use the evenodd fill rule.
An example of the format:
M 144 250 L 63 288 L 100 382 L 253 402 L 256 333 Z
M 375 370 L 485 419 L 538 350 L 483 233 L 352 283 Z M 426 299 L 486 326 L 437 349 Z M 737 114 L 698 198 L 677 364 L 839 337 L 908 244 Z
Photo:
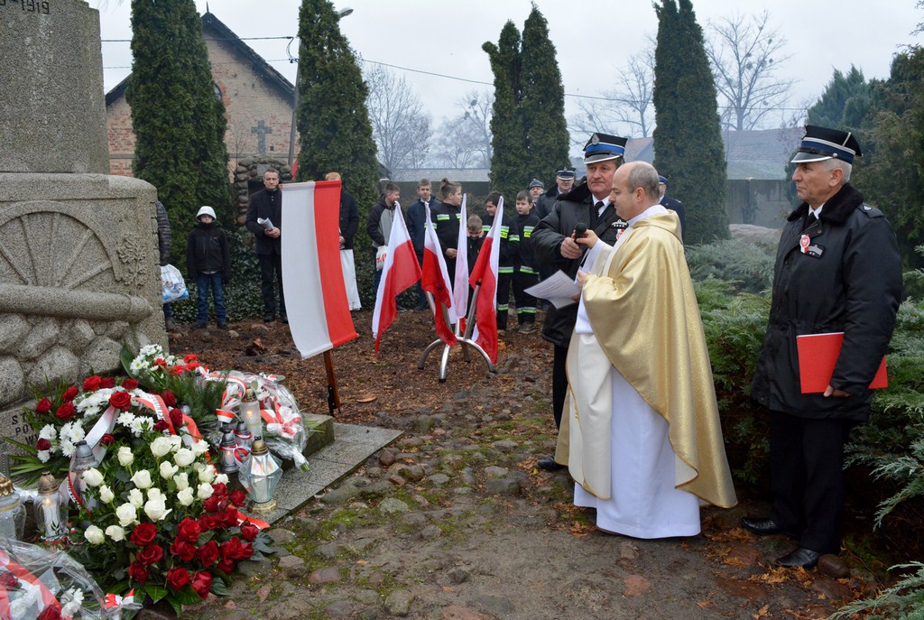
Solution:
M 268 168 L 263 173 L 263 188 L 250 195 L 247 205 L 247 229 L 257 239 L 254 249 L 260 261 L 263 322 L 276 320 L 274 274 L 279 286 L 279 316 L 282 322 L 288 322 L 286 298 L 283 297 L 282 224 L 283 192 L 279 191 L 279 172 Z

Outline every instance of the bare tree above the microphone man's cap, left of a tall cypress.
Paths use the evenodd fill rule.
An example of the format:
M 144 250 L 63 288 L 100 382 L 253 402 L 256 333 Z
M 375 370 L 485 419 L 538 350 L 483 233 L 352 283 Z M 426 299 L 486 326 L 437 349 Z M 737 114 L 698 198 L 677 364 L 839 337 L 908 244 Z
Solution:
M 646 138 L 654 128 L 654 46 L 629 57 L 626 66 L 616 69 L 616 75 L 619 88 L 603 91 L 599 99 L 577 103 L 581 112 L 569 119 L 568 126 L 579 146 L 595 131 Z

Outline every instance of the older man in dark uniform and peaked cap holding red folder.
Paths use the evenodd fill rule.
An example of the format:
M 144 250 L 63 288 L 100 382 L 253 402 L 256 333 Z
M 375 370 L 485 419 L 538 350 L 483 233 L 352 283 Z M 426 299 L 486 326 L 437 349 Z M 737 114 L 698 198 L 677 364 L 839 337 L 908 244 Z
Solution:
M 745 517 L 760 535 L 786 533 L 796 550 L 776 560 L 811 568 L 841 548 L 844 444 L 869 418 L 869 383 L 880 366 L 902 296 L 892 227 L 848 181 L 857 139 L 808 126 L 793 163 L 803 201 L 790 213 L 773 274 L 770 322 L 751 394 L 770 409 L 769 518 Z M 796 337 L 843 333 L 823 393 L 802 394 Z

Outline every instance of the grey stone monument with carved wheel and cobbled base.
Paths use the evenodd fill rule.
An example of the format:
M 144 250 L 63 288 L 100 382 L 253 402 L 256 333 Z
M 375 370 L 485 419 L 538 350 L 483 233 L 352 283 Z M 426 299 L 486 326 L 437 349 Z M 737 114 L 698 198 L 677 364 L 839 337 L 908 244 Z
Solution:
M 107 174 L 99 23 L 81 0 L 0 2 L 0 436 L 19 441 L 31 386 L 166 345 L 156 190 Z

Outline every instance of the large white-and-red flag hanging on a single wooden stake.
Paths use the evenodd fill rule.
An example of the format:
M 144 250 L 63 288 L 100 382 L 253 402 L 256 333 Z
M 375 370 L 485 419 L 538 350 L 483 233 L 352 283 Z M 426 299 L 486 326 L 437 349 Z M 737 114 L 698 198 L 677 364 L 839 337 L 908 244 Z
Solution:
M 302 359 L 358 337 L 340 267 L 340 181 L 280 185 L 283 288 Z

